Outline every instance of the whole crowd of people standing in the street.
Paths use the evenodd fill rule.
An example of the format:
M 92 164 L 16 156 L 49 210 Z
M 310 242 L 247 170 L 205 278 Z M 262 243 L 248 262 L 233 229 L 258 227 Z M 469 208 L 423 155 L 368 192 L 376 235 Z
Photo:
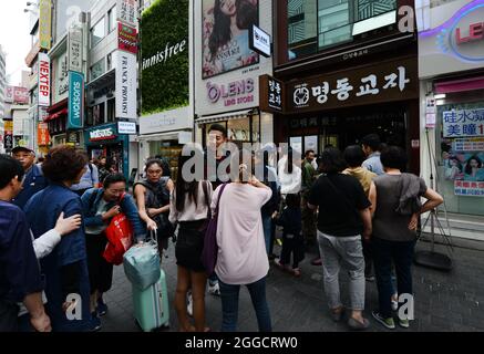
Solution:
M 250 293 L 259 331 L 272 331 L 266 298 L 270 262 L 301 277 L 299 264 L 311 246 L 319 252 L 311 263 L 322 266 L 333 321 L 344 317 L 351 330 L 368 329 L 365 288 L 375 280 L 379 308 L 372 316 L 394 329 L 399 295 L 413 294 L 420 215 L 443 202 L 422 178 L 404 173 L 405 152 L 383 146 L 372 134 L 344 152 L 327 146 L 319 158 L 308 150 L 301 159 L 289 149 L 277 160 L 277 152 L 266 147 L 250 153 L 248 164 L 245 152 L 227 154 L 225 143 L 226 128 L 214 124 L 202 154 L 213 153 L 216 168 L 230 159 L 226 173 L 235 176 L 231 180 L 214 176 L 208 164 L 202 180 L 188 180 L 181 171 L 189 168 L 190 157 L 183 155 L 172 180 L 166 165 L 151 158 L 132 194 L 125 177 L 106 167 L 105 157 L 93 164 L 73 147 L 52 148 L 41 164 L 24 147 L 1 155 L 0 331 L 100 330 L 100 317 L 109 311 L 103 294 L 113 278 L 113 264 L 103 258 L 105 230 L 121 212 L 133 227 L 134 243 L 154 233 L 163 254 L 169 238 L 176 238 L 179 331 L 210 331 L 207 284 L 222 300 L 222 331 L 237 330 L 240 287 Z M 251 168 L 257 165 L 262 165 L 260 180 Z M 208 273 L 202 253 L 215 214 L 218 254 Z M 274 254 L 276 240 L 279 257 Z M 348 311 L 340 296 L 342 269 L 349 274 Z M 72 294 L 80 298 L 72 300 Z M 72 319 L 78 301 L 82 314 Z M 399 316 L 398 324 L 409 327 L 410 322 Z

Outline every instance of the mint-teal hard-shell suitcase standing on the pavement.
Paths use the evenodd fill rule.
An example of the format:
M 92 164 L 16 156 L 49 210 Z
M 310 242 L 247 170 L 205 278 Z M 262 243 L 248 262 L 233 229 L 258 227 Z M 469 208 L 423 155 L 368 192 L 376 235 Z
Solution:
M 168 291 L 165 272 L 145 290 L 133 285 L 134 317 L 144 332 L 169 326 Z

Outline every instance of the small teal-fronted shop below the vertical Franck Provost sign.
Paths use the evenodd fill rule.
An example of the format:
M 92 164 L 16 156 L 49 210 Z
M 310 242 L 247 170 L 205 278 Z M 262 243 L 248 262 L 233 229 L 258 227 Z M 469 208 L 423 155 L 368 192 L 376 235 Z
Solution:
M 84 132 L 90 158 L 106 156 L 111 167 L 126 178 L 130 174 L 130 136 L 120 134 L 116 124 L 105 124 Z

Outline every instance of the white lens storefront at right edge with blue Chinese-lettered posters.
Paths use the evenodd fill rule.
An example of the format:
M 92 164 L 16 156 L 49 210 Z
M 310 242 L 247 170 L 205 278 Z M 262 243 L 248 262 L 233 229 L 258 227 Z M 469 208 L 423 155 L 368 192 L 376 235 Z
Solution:
M 484 1 L 428 9 L 419 32 L 422 171 L 453 236 L 484 240 Z

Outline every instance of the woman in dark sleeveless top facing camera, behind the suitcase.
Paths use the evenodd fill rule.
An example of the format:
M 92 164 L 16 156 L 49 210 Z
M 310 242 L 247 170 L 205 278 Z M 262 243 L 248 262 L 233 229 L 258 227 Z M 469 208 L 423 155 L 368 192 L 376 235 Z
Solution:
M 148 232 L 156 230 L 159 256 L 163 256 L 174 233 L 174 227 L 168 220 L 169 195 L 174 184 L 169 177 L 163 177 L 163 163 L 158 158 L 148 159 L 145 170 L 146 179 L 134 185 L 134 198 L 140 218 Z

